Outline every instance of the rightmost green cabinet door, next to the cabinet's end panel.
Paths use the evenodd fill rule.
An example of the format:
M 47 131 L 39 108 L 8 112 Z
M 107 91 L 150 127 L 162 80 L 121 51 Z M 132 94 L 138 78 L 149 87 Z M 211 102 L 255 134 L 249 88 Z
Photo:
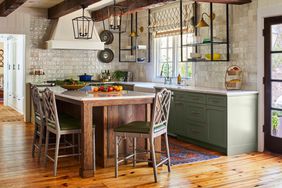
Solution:
M 208 141 L 225 148 L 227 146 L 227 110 L 223 107 L 207 107 Z

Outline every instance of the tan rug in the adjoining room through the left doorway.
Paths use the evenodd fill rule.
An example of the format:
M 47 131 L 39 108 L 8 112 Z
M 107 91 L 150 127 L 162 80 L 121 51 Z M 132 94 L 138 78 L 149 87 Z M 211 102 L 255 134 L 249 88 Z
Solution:
M 23 121 L 23 115 L 8 106 L 0 105 L 0 123 Z

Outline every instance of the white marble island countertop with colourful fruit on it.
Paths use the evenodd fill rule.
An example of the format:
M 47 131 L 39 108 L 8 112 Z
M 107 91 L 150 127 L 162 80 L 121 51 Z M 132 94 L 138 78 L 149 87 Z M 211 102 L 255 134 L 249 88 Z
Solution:
M 144 93 L 136 91 L 121 91 L 121 92 L 90 92 L 91 86 L 87 86 L 82 90 L 68 91 L 59 86 L 50 87 L 56 96 L 73 99 L 77 101 L 87 100 L 111 100 L 111 99 L 144 99 L 154 98 L 154 93 Z

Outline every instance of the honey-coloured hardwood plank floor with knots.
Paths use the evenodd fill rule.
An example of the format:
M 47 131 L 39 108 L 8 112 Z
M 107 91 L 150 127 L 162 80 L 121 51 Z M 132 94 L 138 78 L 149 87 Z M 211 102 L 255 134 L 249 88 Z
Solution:
M 81 179 L 75 158 L 60 159 L 58 176 L 31 157 L 33 125 L 0 123 L 0 187 L 282 187 L 282 156 L 251 153 L 210 161 L 159 168 L 159 183 L 146 163 L 136 168 L 122 165 L 119 178 L 114 168 L 98 168 L 93 178 Z M 191 148 L 195 147 L 185 144 Z

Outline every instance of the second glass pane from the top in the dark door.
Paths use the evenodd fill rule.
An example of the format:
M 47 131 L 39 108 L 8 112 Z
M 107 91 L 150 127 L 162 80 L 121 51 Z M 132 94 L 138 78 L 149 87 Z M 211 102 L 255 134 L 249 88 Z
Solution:
M 282 80 L 282 53 L 271 54 L 271 78 Z

